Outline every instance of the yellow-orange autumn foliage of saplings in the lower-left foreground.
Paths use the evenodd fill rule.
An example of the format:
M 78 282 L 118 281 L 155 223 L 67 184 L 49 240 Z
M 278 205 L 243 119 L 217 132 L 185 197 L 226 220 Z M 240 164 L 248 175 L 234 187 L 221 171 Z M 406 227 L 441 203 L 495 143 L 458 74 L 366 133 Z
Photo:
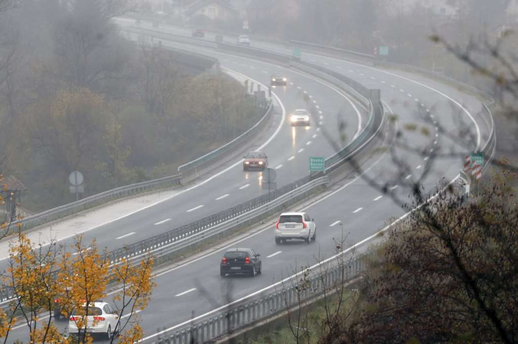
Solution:
M 69 248 L 55 243 L 42 247 L 33 245 L 23 233 L 18 234 L 16 243 L 11 243 L 9 253 L 2 287 L 13 297 L 7 309 L 0 309 L 0 338 L 7 338 L 16 324 L 26 328 L 30 343 L 91 343 L 89 334 L 69 338 L 61 332 L 53 322 L 55 307 L 59 306 L 58 312 L 65 317 L 73 309 L 81 316 L 86 315 L 81 313 L 87 309 L 85 304 L 92 305 L 100 299 L 118 313 L 117 343 L 131 344 L 142 338 L 136 312 L 147 307 L 154 286 L 151 256 L 135 266 L 131 260 L 111 264 L 106 252 L 98 251 L 95 241 L 87 246 L 77 237 Z M 116 292 L 108 293 L 108 285 L 117 285 Z M 85 333 L 87 324 L 82 317 L 76 318 L 76 325 Z

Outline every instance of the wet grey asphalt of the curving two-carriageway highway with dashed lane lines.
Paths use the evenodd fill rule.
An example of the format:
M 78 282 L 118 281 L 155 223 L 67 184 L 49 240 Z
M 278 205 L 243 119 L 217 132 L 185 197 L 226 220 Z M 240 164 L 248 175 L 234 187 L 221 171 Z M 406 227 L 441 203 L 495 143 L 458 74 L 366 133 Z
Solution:
M 180 32 L 177 28 L 170 30 L 176 34 Z M 187 31 L 183 33 L 190 35 Z M 210 35 L 207 35 L 206 39 L 210 39 Z M 352 139 L 357 131 L 358 114 L 352 105 L 335 90 L 318 81 L 289 69 L 275 69 L 276 67 L 269 63 L 253 59 L 228 56 L 211 49 L 190 47 L 175 42 L 163 41 L 163 44 L 214 56 L 220 59 L 222 67 L 263 84 L 268 83 L 272 70 L 286 73 L 293 84 L 275 90 L 278 101 L 284 107 L 283 113 L 279 104 L 279 112 L 274 120 L 274 126 L 278 125 L 279 131 L 264 148 L 261 148 L 269 156 L 270 167 L 278 167 L 278 185 L 306 175 L 308 156 L 329 156 L 333 153 L 329 142 L 322 137 L 321 131 L 318 131 L 319 125 L 337 135 L 335 115 L 341 112 L 347 114 L 347 137 Z M 255 45 L 255 42 L 252 44 Z M 285 52 L 285 48 L 274 44 L 261 47 Z M 471 149 L 484 143 L 485 128 L 478 123 L 475 116 L 481 107 L 476 97 L 439 82 L 399 71 L 379 70 L 315 54 L 304 54 L 303 59 L 333 68 L 362 82 L 368 88 L 381 89 L 382 99 L 386 104 L 385 110 L 397 116 L 396 123 L 400 130 L 404 131 L 405 124 L 418 124 L 419 130 L 405 131 L 403 140 L 424 154 L 397 148 L 398 158 L 407 164 L 404 178 L 396 175 L 399 170 L 397 167 L 401 166 L 394 166 L 388 153 L 379 153 L 364 165 L 365 177 L 386 183 L 387 190 L 401 199 L 408 199 L 412 183 L 421 178 L 427 167 L 431 166 L 430 174 L 421 181 L 427 191 L 434 190 L 441 178 L 450 181 L 457 176 L 462 165 L 461 159 L 435 158 L 435 154 L 451 149 L 468 150 L 459 146 L 458 140 L 452 139 L 451 135 L 445 132 L 455 133 L 459 128 L 459 119 L 469 125 L 473 133 L 480 132 L 476 137 L 479 137 L 481 142 L 473 142 Z M 285 115 L 292 109 L 305 107 L 304 94 L 308 97 L 311 95 L 310 99 L 316 102 L 315 105 L 319 105 L 322 111 L 322 119 L 319 117 L 319 122 L 322 124 L 312 125 L 309 130 L 303 127 L 293 130 Z M 361 112 L 360 118 L 365 118 L 361 108 L 358 110 Z M 426 128 L 425 131 L 422 131 L 423 127 Z M 166 202 L 130 217 L 89 231 L 85 233 L 85 237 L 96 238 L 100 247 L 117 248 L 124 243 L 132 243 L 165 232 L 260 194 L 258 176 L 258 173 L 243 173 L 240 163 L 236 161 L 235 166 L 220 169 L 211 176 L 212 179 L 198 182 L 197 187 L 188 188 Z M 289 276 L 300 266 L 314 264 L 317 257 L 333 255 L 336 239 L 346 237 L 348 244 L 358 242 L 384 227 L 387 219 L 400 217 L 406 212 L 394 204 L 390 195 L 373 189 L 362 177 L 345 179 L 340 182 L 341 187 L 333 194 L 308 204 L 303 209 L 297 208 L 307 211 L 316 220 L 316 242 L 307 244 L 303 241 L 293 241 L 285 245 L 276 245 L 272 233 L 274 222 L 269 222 L 257 227 L 254 234 L 232 243 L 231 247 L 251 247 L 261 253 L 261 275 L 221 278 L 219 262 L 227 247 L 207 252 L 194 261 L 186 261 L 183 265 L 162 271 L 155 278 L 157 286 L 150 305 L 139 313 L 146 335 L 189 321 L 232 300 L 267 288 Z M 134 234 L 117 239 L 128 233 Z M 66 322 L 63 321 L 58 324 L 61 327 L 66 326 Z M 15 329 L 10 338 L 13 341 L 17 338 L 26 340 L 25 332 L 20 328 Z

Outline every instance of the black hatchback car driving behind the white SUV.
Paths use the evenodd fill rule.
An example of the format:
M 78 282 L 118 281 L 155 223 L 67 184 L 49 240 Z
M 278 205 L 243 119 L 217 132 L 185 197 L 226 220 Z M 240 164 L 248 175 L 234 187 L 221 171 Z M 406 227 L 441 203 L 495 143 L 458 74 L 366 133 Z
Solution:
M 261 274 L 261 255 L 252 249 L 230 249 L 223 254 L 220 263 L 220 275 L 225 277 L 232 274 Z

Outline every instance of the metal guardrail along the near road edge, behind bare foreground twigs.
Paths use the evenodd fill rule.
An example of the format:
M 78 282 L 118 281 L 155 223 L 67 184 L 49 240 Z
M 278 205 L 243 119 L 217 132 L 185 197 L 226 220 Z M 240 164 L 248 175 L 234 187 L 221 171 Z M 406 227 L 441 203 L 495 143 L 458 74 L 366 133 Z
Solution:
M 158 332 L 153 338 L 142 340 L 144 344 L 186 344 L 205 343 L 235 332 L 260 320 L 275 316 L 282 311 L 298 307 L 316 299 L 324 291 L 333 290 L 338 283 L 350 283 L 359 277 L 365 263 L 361 257 L 333 266 L 322 274 L 313 274 L 300 291 L 296 282 L 287 282 L 281 290 L 274 290 L 257 299 L 235 303 L 211 316 L 186 321 L 172 329 Z

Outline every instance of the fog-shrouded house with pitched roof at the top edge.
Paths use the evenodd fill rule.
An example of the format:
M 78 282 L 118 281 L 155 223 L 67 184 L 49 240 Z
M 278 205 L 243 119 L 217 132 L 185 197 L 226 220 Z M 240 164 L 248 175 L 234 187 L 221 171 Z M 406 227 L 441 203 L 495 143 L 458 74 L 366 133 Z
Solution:
M 199 0 L 183 11 L 185 20 L 206 17 L 211 20 L 229 20 L 240 17 L 240 12 L 225 0 Z

